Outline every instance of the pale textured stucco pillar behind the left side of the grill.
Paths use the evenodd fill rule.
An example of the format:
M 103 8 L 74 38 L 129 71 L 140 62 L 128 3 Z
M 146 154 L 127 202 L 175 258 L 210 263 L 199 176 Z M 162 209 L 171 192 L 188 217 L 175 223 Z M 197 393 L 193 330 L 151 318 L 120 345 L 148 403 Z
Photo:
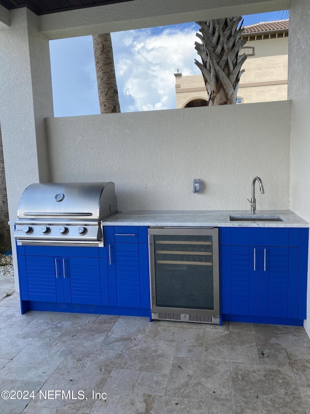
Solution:
M 44 118 L 53 116 L 48 40 L 29 10 L 11 12 L 0 30 L 0 122 L 10 219 L 31 182 L 48 181 Z M 12 230 L 12 228 L 11 228 Z M 12 238 L 15 270 L 15 241 Z M 17 271 L 15 271 L 18 291 Z

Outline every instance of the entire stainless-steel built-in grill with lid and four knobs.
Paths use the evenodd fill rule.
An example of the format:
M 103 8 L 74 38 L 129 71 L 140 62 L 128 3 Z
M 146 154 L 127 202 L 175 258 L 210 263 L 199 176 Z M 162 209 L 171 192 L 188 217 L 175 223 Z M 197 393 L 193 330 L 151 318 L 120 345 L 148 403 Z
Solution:
M 34 183 L 15 221 L 17 245 L 103 246 L 102 221 L 118 213 L 113 182 Z

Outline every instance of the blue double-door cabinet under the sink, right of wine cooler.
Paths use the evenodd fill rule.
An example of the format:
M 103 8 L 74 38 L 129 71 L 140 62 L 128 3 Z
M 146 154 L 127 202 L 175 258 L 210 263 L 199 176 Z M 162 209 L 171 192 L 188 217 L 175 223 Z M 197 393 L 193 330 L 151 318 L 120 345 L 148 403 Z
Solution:
M 302 325 L 308 229 L 222 228 L 223 320 Z

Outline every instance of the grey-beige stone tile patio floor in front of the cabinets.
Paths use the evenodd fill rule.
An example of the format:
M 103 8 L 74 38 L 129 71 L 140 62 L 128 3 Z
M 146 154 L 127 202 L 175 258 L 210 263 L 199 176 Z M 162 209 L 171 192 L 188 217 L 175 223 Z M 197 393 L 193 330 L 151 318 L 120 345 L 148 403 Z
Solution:
M 309 414 L 310 341 L 279 325 L 20 315 L 14 294 L 0 300 L 3 390 L 24 393 L 2 394 L 1 414 Z

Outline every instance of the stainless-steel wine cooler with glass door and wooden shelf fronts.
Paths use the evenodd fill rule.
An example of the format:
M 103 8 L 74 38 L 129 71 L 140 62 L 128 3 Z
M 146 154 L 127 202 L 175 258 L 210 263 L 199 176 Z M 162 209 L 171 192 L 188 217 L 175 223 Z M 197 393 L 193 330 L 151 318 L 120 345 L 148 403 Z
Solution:
M 152 319 L 220 323 L 217 228 L 149 228 Z

